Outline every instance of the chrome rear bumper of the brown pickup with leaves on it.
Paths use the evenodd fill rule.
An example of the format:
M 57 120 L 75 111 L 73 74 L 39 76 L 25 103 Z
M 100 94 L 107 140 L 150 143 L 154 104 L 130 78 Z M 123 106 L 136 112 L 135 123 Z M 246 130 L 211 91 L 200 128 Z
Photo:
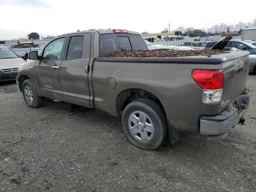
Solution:
M 237 98 L 236 107 L 234 107 L 233 104 L 230 104 L 230 106 L 225 108 L 217 116 L 201 117 L 200 134 L 220 135 L 224 132 L 228 132 L 232 127 L 236 126 L 248 108 L 251 93 L 252 90 L 246 88 Z

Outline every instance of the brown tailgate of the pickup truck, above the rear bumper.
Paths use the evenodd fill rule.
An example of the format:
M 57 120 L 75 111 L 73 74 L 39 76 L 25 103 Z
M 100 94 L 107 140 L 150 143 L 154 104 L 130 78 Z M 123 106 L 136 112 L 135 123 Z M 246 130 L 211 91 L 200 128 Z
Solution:
M 223 58 L 224 84 L 220 112 L 234 102 L 246 88 L 250 69 L 249 54 L 247 51 L 238 51 L 226 54 Z

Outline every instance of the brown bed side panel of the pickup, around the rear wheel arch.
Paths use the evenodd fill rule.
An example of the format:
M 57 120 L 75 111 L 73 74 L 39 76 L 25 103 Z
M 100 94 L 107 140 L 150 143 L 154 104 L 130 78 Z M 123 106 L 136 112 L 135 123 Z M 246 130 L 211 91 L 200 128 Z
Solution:
M 146 90 L 158 97 L 175 129 L 198 132 L 200 116 L 218 114 L 220 104 L 203 104 L 202 89 L 192 79 L 192 70 L 220 68 L 221 64 L 96 61 L 92 71 L 94 104 L 116 115 L 116 98 L 122 90 Z M 110 78 L 116 80 L 114 89 L 108 86 Z

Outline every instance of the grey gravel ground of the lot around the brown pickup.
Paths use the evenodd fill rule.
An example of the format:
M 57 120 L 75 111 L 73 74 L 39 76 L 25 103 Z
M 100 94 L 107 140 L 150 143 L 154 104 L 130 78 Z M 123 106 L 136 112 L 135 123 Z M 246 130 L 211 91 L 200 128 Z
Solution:
M 248 87 L 255 82 L 250 75 Z M 148 151 L 126 139 L 120 118 L 65 102 L 28 108 L 14 82 L 2 83 L 0 191 L 255 192 L 255 111 L 253 92 L 245 125 L 226 139 L 182 134 Z

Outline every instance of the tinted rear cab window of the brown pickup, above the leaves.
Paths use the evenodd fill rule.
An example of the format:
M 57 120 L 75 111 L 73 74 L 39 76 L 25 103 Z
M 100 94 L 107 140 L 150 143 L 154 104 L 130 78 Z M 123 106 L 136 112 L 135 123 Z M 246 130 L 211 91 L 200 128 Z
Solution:
M 122 49 L 148 50 L 140 35 L 136 34 L 101 34 L 100 57 L 107 56 L 112 51 Z

